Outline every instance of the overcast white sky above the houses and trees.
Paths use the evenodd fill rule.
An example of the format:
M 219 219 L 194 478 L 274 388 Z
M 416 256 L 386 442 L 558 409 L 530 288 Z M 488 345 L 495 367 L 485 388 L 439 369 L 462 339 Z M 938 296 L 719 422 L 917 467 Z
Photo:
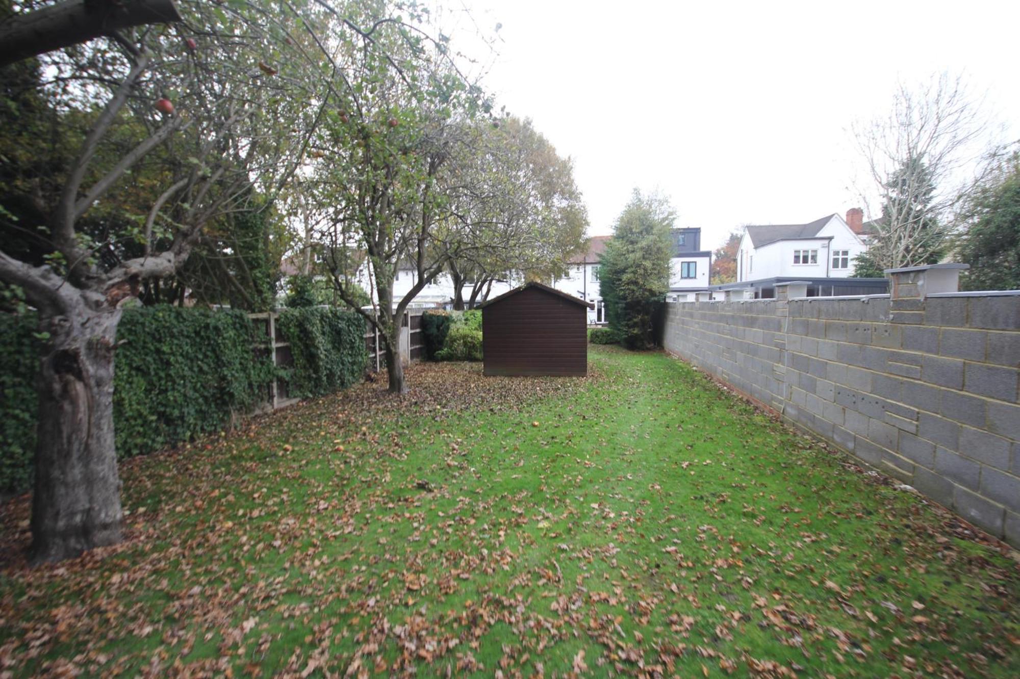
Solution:
M 634 187 L 667 195 L 706 249 L 845 214 L 849 127 L 886 112 L 898 80 L 963 73 L 1020 136 L 1015 1 L 456 2 L 503 24 L 488 89 L 573 158 L 590 234 Z

